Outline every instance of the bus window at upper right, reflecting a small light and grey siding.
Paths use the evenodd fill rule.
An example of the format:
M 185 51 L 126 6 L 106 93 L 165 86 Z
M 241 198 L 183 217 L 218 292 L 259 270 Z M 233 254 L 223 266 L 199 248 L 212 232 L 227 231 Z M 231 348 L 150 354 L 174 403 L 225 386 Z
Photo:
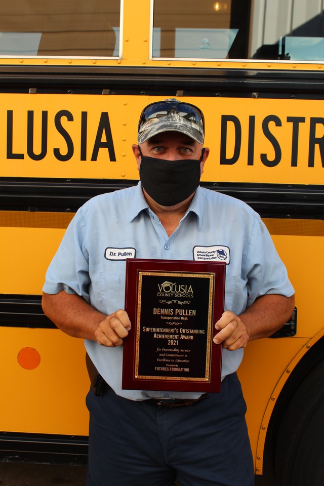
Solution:
M 154 0 L 152 58 L 323 60 L 322 0 Z

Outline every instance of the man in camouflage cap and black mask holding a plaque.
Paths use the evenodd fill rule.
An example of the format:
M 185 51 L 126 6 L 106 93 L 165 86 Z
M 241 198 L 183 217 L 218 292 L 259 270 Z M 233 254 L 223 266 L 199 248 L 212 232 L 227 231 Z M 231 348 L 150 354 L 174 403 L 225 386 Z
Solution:
M 260 217 L 199 187 L 209 156 L 203 143 L 199 108 L 175 99 L 144 108 L 133 145 L 141 182 L 80 208 L 47 272 L 45 313 L 86 340 L 107 384 L 103 395 L 87 396 L 88 486 L 254 482 L 235 372 L 247 342 L 291 316 L 294 290 Z M 123 341 L 134 324 L 123 310 L 126 258 L 192 260 L 194 248 L 215 246 L 227 263 L 227 310 L 214 338 L 223 346 L 221 392 L 121 389 Z

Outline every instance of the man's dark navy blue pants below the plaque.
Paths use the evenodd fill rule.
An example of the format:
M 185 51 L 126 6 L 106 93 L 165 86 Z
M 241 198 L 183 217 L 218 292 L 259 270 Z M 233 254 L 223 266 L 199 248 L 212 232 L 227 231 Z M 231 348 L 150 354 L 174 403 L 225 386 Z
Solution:
M 189 406 L 87 396 L 87 486 L 253 486 L 246 404 L 236 373 Z

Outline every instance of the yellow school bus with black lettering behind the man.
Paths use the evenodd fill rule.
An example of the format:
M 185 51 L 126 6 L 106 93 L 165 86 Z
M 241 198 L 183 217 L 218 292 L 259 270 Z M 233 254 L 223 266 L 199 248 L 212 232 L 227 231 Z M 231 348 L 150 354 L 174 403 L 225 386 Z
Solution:
M 0 6 L 0 450 L 85 463 L 82 340 L 43 314 L 46 269 L 77 208 L 134 185 L 150 102 L 206 118 L 201 185 L 260 213 L 296 290 L 239 378 L 255 462 L 324 483 L 324 38 L 317 0 L 12 0 Z

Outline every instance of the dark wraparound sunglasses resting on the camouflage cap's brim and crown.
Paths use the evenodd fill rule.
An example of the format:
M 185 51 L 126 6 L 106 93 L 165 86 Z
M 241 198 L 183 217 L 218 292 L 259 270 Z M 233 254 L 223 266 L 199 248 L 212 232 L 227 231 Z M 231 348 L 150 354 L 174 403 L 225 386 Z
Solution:
M 151 118 L 160 118 L 166 116 L 172 107 L 175 107 L 180 116 L 202 124 L 205 132 L 205 119 L 203 112 L 201 112 L 197 106 L 190 103 L 185 103 L 183 101 L 155 101 L 154 103 L 150 103 L 143 109 L 141 113 L 138 128 L 140 128 L 145 121 Z

